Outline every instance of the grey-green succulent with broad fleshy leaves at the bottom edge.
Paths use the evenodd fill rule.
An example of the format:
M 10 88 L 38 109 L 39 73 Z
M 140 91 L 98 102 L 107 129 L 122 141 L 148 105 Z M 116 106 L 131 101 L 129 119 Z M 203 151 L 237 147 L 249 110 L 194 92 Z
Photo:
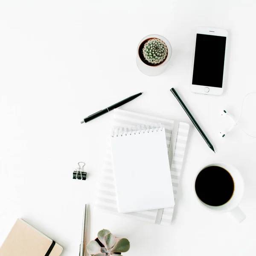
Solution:
M 120 256 L 116 253 L 125 253 L 130 249 L 130 242 L 126 238 L 115 238 L 109 230 L 100 230 L 99 241 L 104 245 L 101 247 L 95 240 L 87 244 L 87 252 L 93 256 Z M 121 255 L 122 256 L 122 255 Z

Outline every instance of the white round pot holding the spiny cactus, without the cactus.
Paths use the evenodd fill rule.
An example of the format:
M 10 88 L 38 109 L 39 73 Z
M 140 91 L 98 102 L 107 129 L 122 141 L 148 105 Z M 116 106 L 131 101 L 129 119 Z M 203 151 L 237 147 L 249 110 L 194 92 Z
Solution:
M 166 46 L 167 46 L 167 49 L 168 49 L 168 55 L 167 55 L 167 58 L 165 59 L 165 61 L 163 61 L 163 63 L 159 64 L 159 65 L 156 65 L 156 66 L 149 66 L 147 64 L 145 64 L 141 58 L 140 58 L 140 55 L 139 55 L 139 48 L 140 48 L 140 45 L 147 39 L 149 38 L 159 38 L 160 40 L 162 40 Z M 155 35 L 155 34 L 152 34 L 152 35 L 147 35 L 145 36 L 145 38 L 143 38 L 138 47 L 137 47 L 137 55 L 136 55 L 136 63 L 137 63 L 137 67 L 139 68 L 139 70 L 144 73 L 145 75 L 147 76 L 157 76 L 157 75 L 160 75 L 161 73 L 163 73 L 164 70 L 166 70 L 166 68 L 168 67 L 169 65 L 169 61 L 170 61 L 170 58 L 171 58 L 171 55 L 172 55 L 172 46 L 171 44 L 169 43 L 169 41 L 161 36 L 161 35 Z

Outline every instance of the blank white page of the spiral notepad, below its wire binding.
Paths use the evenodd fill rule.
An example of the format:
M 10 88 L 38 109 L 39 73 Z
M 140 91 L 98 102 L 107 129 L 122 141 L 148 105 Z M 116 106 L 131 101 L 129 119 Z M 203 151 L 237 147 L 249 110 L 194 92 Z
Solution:
M 174 207 L 165 129 L 111 137 L 119 212 Z

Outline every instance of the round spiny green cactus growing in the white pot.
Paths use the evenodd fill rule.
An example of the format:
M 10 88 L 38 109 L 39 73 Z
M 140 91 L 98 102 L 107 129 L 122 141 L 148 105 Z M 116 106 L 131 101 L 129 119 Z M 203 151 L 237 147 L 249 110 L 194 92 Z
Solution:
M 144 44 L 142 52 L 146 61 L 151 64 L 159 64 L 166 59 L 168 49 L 159 38 L 151 38 Z

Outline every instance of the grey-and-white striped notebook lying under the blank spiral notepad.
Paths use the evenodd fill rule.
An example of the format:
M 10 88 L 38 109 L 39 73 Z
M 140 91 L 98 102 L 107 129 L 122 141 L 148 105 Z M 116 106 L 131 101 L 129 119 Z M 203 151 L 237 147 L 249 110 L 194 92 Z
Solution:
M 174 198 L 176 199 L 180 172 L 182 169 L 183 157 L 189 133 L 189 124 L 115 109 L 112 128 L 127 128 L 133 125 L 153 125 L 155 123 L 161 123 L 166 131 L 166 144 L 172 175 L 172 187 Z M 99 183 L 95 207 L 114 214 L 162 225 L 171 224 L 174 211 L 174 207 L 172 207 L 141 212 L 118 213 L 110 140 L 108 140 L 105 163 Z

